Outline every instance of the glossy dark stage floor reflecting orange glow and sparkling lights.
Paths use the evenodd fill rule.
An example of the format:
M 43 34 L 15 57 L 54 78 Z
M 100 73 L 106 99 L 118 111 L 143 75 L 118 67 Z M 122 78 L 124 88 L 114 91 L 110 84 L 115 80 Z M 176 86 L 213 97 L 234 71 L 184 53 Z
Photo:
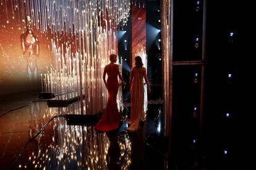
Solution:
M 124 119 L 119 130 L 99 134 L 62 117 L 77 113 L 78 103 L 48 107 L 35 94 L 23 95 L 1 98 L 1 169 L 164 169 L 164 148 L 154 145 L 163 135 L 161 103 L 148 105 L 140 131 L 127 132 Z M 129 117 L 129 107 L 122 114 Z

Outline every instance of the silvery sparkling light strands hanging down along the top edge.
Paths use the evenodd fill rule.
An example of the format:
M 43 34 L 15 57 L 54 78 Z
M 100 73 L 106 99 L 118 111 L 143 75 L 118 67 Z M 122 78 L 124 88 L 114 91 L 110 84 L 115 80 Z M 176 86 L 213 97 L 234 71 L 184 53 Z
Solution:
M 126 25 L 130 12 L 129 0 L 11 0 L 12 17 L 18 11 L 20 19 L 25 22 L 26 17 L 30 16 L 36 29 L 43 33 L 52 33 L 56 36 L 74 35 L 79 31 L 77 22 L 79 15 L 86 15 L 86 22 L 94 17 L 106 18 L 111 21 L 114 29 L 117 26 Z M 7 9 L 7 1 L 1 2 L 6 8 L 7 23 L 9 23 L 9 15 Z M 97 15 L 98 13 L 98 15 Z M 21 18 L 20 18 L 21 16 Z M 81 24 L 82 25 L 82 24 Z M 86 25 L 83 25 L 83 27 Z

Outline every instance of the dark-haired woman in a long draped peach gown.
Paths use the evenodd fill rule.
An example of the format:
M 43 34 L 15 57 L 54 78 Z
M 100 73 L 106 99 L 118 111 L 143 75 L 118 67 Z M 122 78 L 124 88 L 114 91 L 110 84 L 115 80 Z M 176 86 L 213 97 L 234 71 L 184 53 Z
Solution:
M 131 113 L 127 131 L 137 131 L 140 129 L 140 121 L 145 120 L 144 113 L 144 83 L 147 83 L 148 93 L 151 92 L 148 83 L 147 69 L 143 67 L 142 58 L 135 57 L 135 67 L 130 71 L 130 105 Z

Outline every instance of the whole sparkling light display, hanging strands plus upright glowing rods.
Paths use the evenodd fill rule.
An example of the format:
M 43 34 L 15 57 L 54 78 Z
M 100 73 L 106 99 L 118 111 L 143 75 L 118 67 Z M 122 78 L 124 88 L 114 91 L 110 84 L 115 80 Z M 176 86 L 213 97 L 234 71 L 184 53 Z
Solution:
M 104 108 L 108 93 L 101 79 L 102 70 L 109 54 L 117 52 L 117 27 L 127 23 L 130 1 L 11 0 L 2 3 L 6 14 L 7 3 L 11 3 L 12 15 L 18 15 L 23 24 L 23 32 L 29 16 L 33 28 L 52 39 L 49 51 L 53 62 L 41 76 L 43 91 L 56 93 L 56 99 L 62 100 L 85 95 L 85 103 L 80 105 L 82 114 Z M 122 97 L 120 93 L 118 96 L 121 108 Z

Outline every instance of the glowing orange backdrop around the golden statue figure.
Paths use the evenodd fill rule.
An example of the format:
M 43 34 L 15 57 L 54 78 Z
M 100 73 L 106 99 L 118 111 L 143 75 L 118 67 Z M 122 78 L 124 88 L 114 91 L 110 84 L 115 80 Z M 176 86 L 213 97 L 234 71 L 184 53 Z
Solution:
M 40 52 L 35 61 L 38 78 L 31 82 L 28 79 L 27 59 L 22 55 L 20 35 L 23 31 L 20 25 L 15 18 L 7 23 L 6 15 L 0 15 L 0 26 L 0 95 L 40 89 L 40 74 L 45 73 L 46 65 L 49 65 L 50 41 L 40 31 L 33 30 L 40 41 Z

